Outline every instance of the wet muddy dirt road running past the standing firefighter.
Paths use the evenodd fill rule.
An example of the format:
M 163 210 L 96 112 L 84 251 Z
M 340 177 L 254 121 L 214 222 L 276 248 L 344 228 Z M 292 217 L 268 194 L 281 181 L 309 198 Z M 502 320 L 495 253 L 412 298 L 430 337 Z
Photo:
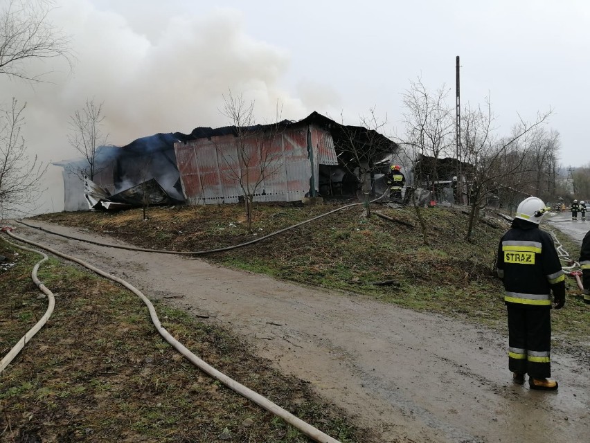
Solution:
M 105 248 L 21 225 L 16 233 L 231 327 L 382 442 L 590 441 L 589 368 L 573 356 L 553 353 L 559 392 L 531 391 L 512 384 L 505 334 L 192 258 Z

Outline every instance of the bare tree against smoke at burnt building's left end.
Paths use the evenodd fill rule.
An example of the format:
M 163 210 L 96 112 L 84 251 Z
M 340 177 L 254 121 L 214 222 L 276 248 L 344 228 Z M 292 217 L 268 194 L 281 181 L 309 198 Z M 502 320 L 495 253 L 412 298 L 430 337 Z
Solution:
M 107 135 L 102 134 L 103 120 L 105 116 L 102 115 L 102 102 L 96 104 L 93 99 L 86 100 L 86 105 L 70 116 L 71 134 L 68 136 L 68 141 L 86 161 L 84 168 L 72 171 L 80 179 L 88 176 L 93 180 L 94 175 L 100 172 L 97 161 L 98 148 L 106 145 L 108 138 Z

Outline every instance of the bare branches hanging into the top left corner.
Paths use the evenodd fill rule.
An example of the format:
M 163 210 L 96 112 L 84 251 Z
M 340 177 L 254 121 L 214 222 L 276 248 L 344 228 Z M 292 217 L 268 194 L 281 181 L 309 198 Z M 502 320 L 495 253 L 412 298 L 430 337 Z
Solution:
M 71 66 L 69 37 L 49 21 L 51 0 L 8 0 L 0 10 L 0 74 L 42 82 L 47 73 L 30 73 L 27 62 L 62 58 Z

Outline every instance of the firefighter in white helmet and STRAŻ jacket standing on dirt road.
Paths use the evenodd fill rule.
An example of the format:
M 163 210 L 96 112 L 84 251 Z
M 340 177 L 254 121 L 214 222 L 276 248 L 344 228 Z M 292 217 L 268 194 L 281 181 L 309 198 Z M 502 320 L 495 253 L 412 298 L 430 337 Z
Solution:
M 515 383 L 528 374 L 531 389 L 556 390 L 551 377 L 551 293 L 565 304 L 565 276 L 551 235 L 539 222 L 551 208 L 537 197 L 519 204 L 498 246 L 497 273 L 508 310 L 508 368 Z

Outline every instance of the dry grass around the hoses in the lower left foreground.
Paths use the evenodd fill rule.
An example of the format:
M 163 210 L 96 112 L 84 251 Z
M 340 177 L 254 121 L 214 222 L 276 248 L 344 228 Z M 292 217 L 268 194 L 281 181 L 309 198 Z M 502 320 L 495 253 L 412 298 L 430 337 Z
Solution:
M 0 255 L 0 355 L 42 316 L 30 282 L 38 260 Z M 307 437 L 185 361 L 143 302 L 77 266 L 51 260 L 39 277 L 56 297 L 48 324 L 0 374 L 0 442 L 275 442 Z M 195 354 L 343 442 L 364 442 L 337 408 L 256 359 L 221 327 L 157 304 L 163 326 Z

